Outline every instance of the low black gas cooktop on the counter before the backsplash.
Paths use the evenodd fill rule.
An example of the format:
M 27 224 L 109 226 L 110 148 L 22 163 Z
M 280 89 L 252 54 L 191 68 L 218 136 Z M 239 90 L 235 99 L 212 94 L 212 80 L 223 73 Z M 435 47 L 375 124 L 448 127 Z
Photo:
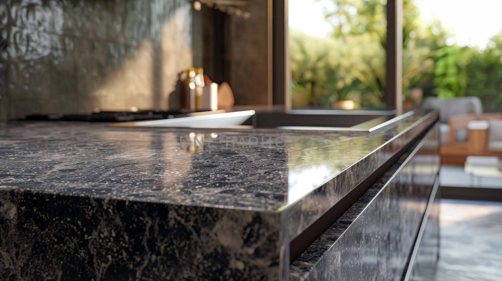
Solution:
M 126 122 L 182 117 L 195 112 L 180 110 L 140 110 L 140 111 L 101 111 L 91 114 L 32 114 L 26 117 L 31 121 L 84 121 L 84 122 Z

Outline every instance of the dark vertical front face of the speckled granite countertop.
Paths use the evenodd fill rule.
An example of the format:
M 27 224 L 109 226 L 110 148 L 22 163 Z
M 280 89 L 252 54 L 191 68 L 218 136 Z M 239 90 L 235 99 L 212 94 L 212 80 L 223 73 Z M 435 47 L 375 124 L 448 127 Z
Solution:
M 0 280 L 277 280 L 274 213 L 0 191 Z

